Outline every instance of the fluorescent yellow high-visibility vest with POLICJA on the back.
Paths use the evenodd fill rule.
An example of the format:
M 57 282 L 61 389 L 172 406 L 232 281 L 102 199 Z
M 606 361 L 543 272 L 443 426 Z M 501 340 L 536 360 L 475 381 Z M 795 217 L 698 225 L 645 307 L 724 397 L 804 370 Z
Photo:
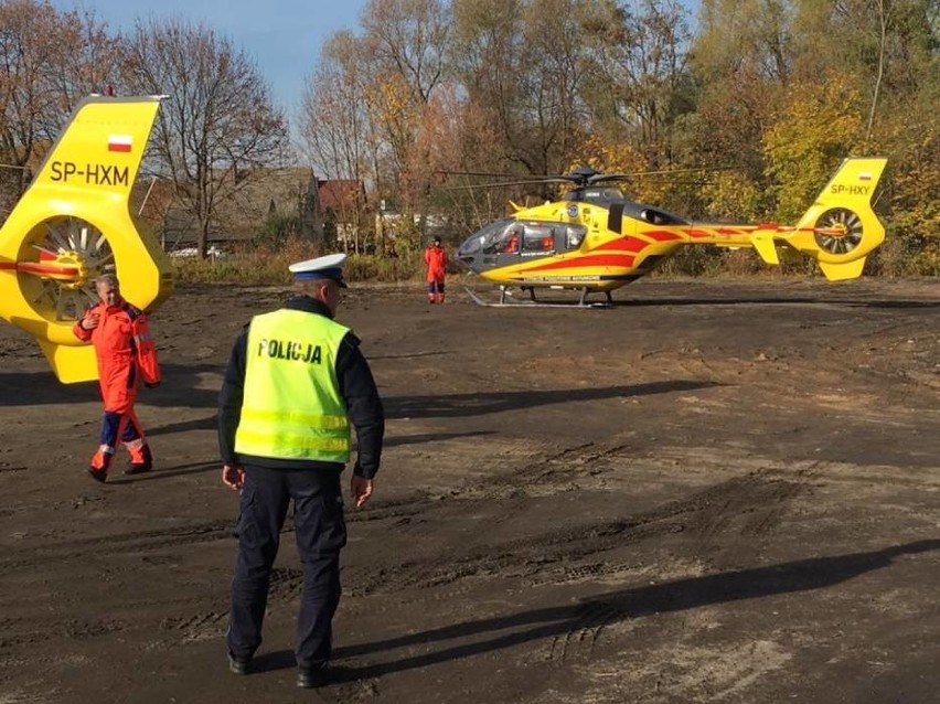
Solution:
M 348 332 L 302 310 L 252 320 L 237 454 L 349 461 L 350 423 L 337 381 L 337 353 Z

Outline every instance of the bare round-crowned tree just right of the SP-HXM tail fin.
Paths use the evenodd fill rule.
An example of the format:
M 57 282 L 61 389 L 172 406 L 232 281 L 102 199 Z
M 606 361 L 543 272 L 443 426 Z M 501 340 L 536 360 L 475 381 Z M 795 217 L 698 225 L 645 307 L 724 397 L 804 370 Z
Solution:
M 233 203 L 264 168 L 282 163 L 286 120 L 255 62 L 202 24 L 138 21 L 124 72 L 125 89 L 170 98 L 151 158 L 195 223 L 204 257 L 220 205 Z

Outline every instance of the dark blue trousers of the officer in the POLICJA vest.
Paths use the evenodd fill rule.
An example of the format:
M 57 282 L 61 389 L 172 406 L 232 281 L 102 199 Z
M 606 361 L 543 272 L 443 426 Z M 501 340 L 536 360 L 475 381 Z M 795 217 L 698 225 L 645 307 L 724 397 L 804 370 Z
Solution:
M 297 664 L 316 668 L 330 659 L 333 615 L 340 602 L 340 551 L 346 544 L 346 526 L 339 471 L 245 467 L 228 651 L 247 661 L 261 644 L 271 565 L 291 499 L 303 565 Z

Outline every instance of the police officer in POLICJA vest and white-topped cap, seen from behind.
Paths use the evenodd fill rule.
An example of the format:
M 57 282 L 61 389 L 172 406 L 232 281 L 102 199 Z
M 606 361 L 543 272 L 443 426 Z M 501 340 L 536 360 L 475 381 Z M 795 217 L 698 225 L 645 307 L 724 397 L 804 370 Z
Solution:
M 359 339 L 333 316 L 346 255 L 291 265 L 297 296 L 255 316 L 235 341 L 218 399 L 222 481 L 241 491 L 238 558 L 232 582 L 228 666 L 250 671 L 261 643 L 271 565 L 292 499 L 303 565 L 297 685 L 331 679 L 332 619 L 346 543 L 340 473 L 359 442 L 351 477 L 356 508 L 378 471 L 385 417 Z

